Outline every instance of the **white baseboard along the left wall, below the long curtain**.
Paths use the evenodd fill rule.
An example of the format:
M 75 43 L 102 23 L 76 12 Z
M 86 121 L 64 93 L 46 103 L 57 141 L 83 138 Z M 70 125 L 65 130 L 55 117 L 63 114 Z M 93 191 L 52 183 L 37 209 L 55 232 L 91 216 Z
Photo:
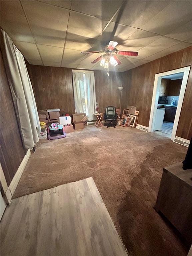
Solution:
M 15 192 L 15 189 L 16 189 L 18 183 L 19 183 L 21 175 L 23 174 L 23 171 L 24 171 L 25 166 L 26 166 L 26 164 L 29 160 L 30 155 L 31 155 L 31 151 L 30 151 L 30 149 L 28 149 L 26 155 L 24 156 L 24 158 L 23 158 L 23 160 L 22 160 L 22 162 L 19 166 L 19 168 L 17 169 L 17 172 L 15 173 L 15 176 L 13 177 L 13 179 L 12 179 L 10 185 L 9 185 L 8 190 L 10 190 L 12 196 L 13 196 L 13 194 Z

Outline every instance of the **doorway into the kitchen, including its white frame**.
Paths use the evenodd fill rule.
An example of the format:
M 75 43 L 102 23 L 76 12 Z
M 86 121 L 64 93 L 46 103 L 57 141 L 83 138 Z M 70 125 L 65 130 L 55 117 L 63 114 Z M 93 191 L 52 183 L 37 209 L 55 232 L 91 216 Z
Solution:
M 149 132 L 175 139 L 189 71 L 190 66 L 155 75 Z

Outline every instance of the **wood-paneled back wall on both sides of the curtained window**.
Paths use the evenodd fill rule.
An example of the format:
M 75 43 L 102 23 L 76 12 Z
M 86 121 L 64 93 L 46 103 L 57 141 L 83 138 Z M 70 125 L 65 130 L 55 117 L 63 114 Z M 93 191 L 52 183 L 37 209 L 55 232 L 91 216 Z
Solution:
M 37 109 L 60 108 L 61 113 L 75 113 L 72 69 L 45 67 L 27 64 L 29 76 L 34 89 Z M 106 106 L 119 107 L 122 73 L 94 70 L 96 101 L 99 111 L 104 112 Z

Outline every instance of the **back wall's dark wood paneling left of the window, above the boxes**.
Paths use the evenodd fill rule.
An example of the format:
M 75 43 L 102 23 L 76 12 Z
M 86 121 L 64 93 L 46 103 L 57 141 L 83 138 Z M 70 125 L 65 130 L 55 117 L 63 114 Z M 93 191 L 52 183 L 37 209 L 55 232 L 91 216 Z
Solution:
M 72 69 L 28 63 L 27 69 L 38 110 L 60 108 L 61 113 L 75 113 Z

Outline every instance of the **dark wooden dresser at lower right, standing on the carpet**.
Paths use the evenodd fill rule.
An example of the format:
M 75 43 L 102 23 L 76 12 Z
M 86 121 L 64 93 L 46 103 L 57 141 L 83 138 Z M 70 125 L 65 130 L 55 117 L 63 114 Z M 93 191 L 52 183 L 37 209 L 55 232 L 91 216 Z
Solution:
M 182 163 L 163 168 L 155 205 L 163 215 L 192 244 L 192 170 L 183 170 Z

